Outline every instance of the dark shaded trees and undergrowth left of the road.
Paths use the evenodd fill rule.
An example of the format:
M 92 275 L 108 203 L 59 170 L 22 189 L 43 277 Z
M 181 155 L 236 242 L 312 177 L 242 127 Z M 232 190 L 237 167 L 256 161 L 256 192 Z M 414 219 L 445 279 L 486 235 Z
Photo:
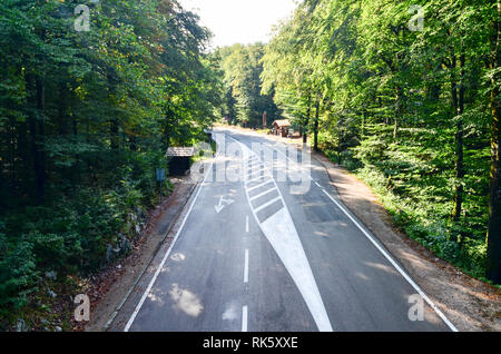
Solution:
M 195 14 L 100 1 L 77 31 L 80 3 L 0 3 L 2 330 L 68 330 L 53 306 L 75 307 L 81 278 L 130 249 L 167 147 L 205 139 L 215 119 L 218 70 Z

